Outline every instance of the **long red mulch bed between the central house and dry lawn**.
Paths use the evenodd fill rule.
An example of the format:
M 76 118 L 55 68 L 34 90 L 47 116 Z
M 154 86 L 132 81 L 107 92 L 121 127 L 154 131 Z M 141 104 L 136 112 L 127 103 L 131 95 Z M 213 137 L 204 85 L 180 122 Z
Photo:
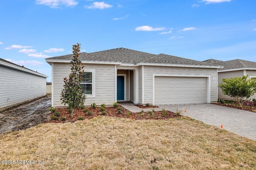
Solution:
M 127 115 L 128 110 L 125 109 L 122 106 L 119 106 L 122 108 L 122 113 L 118 114 L 117 110 L 114 107 L 106 107 L 106 115 L 104 116 L 110 116 L 110 117 L 120 117 L 120 118 L 127 118 L 127 119 L 169 119 L 169 118 L 176 118 L 181 117 L 180 115 L 176 115 L 176 113 L 166 111 L 166 116 L 162 116 L 162 111 L 155 111 L 154 117 L 151 117 L 151 115 L 148 112 L 144 112 L 144 116 L 141 115 L 141 113 L 132 113 L 130 116 Z M 67 108 L 57 108 L 56 110 L 61 113 L 60 117 L 66 117 L 66 121 L 60 121 L 60 118 L 58 120 L 50 120 L 47 123 L 65 123 L 65 122 L 75 122 L 78 121 L 78 117 L 82 116 L 84 119 L 92 119 L 94 117 L 100 116 L 101 111 L 100 108 L 97 107 L 96 109 L 92 109 L 92 107 L 87 107 L 88 111 L 92 112 L 92 115 L 87 115 L 87 113 L 84 113 L 83 109 L 75 109 L 73 117 L 71 117 L 70 113 L 68 113 Z M 52 113 L 50 114 L 52 116 Z

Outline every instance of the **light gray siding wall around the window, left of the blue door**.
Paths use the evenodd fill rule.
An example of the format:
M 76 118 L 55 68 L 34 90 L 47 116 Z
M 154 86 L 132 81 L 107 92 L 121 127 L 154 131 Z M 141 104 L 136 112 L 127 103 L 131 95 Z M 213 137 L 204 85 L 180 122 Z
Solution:
M 84 69 L 95 69 L 95 97 L 87 97 L 84 105 L 92 103 L 112 105 L 115 101 L 115 69 L 114 65 L 85 64 Z M 62 107 L 60 94 L 63 89 L 63 78 L 70 74 L 69 63 L 54 63 L 53 68 L 53 107 Z

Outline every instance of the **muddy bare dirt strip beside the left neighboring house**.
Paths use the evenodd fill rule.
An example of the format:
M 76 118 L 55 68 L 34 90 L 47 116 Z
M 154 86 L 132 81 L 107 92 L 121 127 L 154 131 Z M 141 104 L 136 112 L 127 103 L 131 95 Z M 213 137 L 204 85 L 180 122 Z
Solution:
M 0 112 L 0 134 L 18 131 L 44 123 L 49 119 L 51 96 L 46 95 L 28 103 Z

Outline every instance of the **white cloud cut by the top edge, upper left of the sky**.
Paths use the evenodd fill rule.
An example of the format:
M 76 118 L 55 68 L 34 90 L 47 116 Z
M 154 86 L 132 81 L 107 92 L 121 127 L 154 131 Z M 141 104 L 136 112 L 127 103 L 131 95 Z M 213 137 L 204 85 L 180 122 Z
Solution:
M 36 4 L 50 6 L 51 8 L 59 8 L 58 6 L 76 6 L 76 0 L 36 0 Z

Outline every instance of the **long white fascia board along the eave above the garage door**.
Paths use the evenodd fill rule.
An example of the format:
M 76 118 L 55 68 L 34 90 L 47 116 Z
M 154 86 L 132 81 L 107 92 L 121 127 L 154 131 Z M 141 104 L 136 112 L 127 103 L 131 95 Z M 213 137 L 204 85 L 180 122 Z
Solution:
M 185 65 L 185 64 L 163 64 L 163 63 L 138 63 L 136 66 L 149 65 L 149 66 L 167 66 L 167 67 L 197 67 L 197 68 L 212 68 L 222 69 L 223 66 L 212 66 L 212 65 Z

